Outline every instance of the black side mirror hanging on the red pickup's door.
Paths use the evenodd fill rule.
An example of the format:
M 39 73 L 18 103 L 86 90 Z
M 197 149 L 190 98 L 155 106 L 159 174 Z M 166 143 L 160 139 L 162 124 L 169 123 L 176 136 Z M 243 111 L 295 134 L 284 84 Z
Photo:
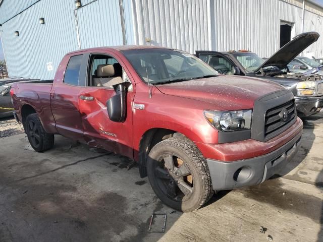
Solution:
M 116 95 L 106 101 L 106 110 L 110 120 L 123 123 L 126 119 L 126 89 L 128 82 L 114 85 Z

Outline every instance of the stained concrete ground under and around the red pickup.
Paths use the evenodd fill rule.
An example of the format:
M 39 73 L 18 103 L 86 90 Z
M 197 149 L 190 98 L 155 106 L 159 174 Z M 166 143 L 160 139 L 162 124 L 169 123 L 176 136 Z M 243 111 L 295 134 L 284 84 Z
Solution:
M 0 119 L 1 242 L 323 241 L 323 113 L 304 123 L 283 177 L 220 192 L 185 214 L 163 205 L 129 159 L 60 136 L 37 153 L 21 131 Z M 165 233 L 147 232 L 154 212 L 167 214 Z M 162 225 L 157 217 L 153 231 Z

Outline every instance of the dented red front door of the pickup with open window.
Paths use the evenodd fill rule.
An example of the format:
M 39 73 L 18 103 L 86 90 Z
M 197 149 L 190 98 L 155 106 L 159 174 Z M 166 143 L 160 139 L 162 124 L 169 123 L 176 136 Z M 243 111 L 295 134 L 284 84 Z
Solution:
M 126 79 L 125 70 L 116 58 L 94 53 L 89 56 L 87 80 L 79 93 L 84 138 L 91 146 L 133 157 L 132 101 L 134 90 L 127 91 L 127 113 L 123 123 L 110 120 L 106 109 L 106 101 L 116 94 L 109 81 L 116 80 L 116 78 Z

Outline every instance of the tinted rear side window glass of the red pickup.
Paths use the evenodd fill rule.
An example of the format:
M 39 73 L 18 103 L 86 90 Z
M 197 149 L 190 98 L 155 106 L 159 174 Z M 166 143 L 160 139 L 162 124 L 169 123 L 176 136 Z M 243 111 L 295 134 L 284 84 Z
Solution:
M 64 83 L 74 86 L 77 86 L 79 84 L 79 74 L 82 63 L 82 57 L 83 55 L 81 54 L 74 55 L 70 58 L 64 75 Z

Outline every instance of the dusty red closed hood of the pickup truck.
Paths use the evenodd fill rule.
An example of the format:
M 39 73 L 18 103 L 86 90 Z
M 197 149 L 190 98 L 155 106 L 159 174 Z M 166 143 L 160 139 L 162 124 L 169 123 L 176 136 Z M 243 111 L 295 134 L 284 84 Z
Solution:
M 284 90 L 271 81 L 253 77 L 219 76 L 156 85 L 164 94 L 190 98 L 214 105 L 217 110 L 253 108 L 254 101 L 266 94 Z

